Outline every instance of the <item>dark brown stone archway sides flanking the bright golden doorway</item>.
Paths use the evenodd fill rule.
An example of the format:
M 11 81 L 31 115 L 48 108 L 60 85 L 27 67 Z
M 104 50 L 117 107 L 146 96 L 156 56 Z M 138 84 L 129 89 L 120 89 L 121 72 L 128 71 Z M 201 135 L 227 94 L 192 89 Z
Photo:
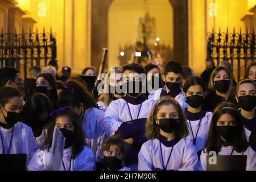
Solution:
M 169 0 L 174 10 L 174 60 L 188 64 L 188 3 Z M 92 60 L 100 67 L 102 47 L 108 47 L 108 12 L 113 0 L 92 1 Z

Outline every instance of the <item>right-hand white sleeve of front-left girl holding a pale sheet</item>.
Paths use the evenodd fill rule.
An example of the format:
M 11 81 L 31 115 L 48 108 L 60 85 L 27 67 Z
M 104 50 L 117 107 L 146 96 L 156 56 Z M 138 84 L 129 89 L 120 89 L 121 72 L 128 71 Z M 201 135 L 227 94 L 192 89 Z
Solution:
M 76 166 L 76 171 L 95 171 L 96 159 L 93 151 L 89 147 L 85 147 L 82 151 L 81 158 L 79 158 Z

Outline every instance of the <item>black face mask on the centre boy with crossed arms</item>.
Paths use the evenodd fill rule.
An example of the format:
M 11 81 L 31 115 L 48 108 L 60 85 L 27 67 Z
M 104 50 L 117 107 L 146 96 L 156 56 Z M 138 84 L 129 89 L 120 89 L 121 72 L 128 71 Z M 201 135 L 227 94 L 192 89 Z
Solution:
M 137 97 L 142 92 L 141 81 L 128 81 L 125 82 L 123 86 L 126 89 L 127 94 L 131 97 Z

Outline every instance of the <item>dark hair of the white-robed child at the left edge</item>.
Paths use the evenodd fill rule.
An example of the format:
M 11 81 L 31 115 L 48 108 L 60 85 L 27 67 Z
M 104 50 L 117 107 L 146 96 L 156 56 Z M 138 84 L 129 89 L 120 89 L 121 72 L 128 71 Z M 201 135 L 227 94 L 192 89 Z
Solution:
M 19 90 L 9 86 L 0 88 L 0 103 L 2 106 L 5 106 L 12 97 L 22 97 L 22 94 L 19 92 Z

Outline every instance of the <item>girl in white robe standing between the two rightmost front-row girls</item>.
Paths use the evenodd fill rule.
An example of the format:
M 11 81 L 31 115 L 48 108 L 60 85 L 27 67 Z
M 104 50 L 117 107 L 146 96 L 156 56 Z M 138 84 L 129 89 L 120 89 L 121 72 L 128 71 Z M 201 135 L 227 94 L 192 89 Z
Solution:
M 205 91 L 204 82 L 200 77 L 192 76 L 185 80 L 183 92 L 188 107 L 185 109 L 184 114 L 187 118 L 189 129 L 188 138 L 193 140 L 193 144 L 199 154 L 207 140 L 210 119 L 212 118 L 212 112 L 207 112 L 203 109 Z

